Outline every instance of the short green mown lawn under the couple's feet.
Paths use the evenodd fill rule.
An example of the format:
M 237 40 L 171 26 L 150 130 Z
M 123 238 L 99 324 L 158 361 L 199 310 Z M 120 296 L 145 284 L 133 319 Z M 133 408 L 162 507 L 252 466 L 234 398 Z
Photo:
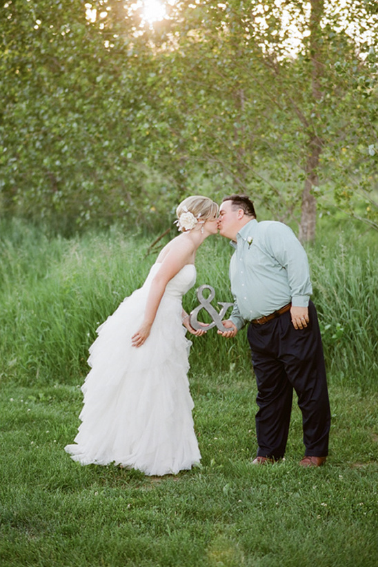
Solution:
M 70 460 L 77 386 L 3 386 L 1 566 L 377 566 L 377 396 L 330 387 L 317 469 L 295 406 L 286 460 L 259 467 L 252 377 L 191 384 L 202 465 L 161 478 Z

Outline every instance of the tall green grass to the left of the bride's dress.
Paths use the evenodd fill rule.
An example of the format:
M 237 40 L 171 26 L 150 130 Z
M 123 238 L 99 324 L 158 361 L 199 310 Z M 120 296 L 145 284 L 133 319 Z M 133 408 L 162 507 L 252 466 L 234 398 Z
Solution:
M 29 227 L 12 237 L 1 240 L 3 375 L 75 381 L 99 322 L 143 282 L 143 249 L 112 232 L 64 240 Z

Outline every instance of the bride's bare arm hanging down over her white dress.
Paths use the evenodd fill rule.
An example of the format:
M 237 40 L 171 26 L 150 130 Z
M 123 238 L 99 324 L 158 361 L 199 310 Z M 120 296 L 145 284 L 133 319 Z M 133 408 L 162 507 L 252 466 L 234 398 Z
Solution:
M 143 323 L 135 335 L 131 338 L 133 347 L 141 347 L 143 342 L 145 342 L 150 335 L 157 309 L 159 308 L 163 293 L 166 291 L 166 285 L 181 270 L 181 268 L 188 263 L 192 253 L 193 250 L 190 243 L 177 243 L 176 245 L 171 246 L 170 251 L 163 259 L 163 262 L 161 262 L 159 271 L 151 282 Z

